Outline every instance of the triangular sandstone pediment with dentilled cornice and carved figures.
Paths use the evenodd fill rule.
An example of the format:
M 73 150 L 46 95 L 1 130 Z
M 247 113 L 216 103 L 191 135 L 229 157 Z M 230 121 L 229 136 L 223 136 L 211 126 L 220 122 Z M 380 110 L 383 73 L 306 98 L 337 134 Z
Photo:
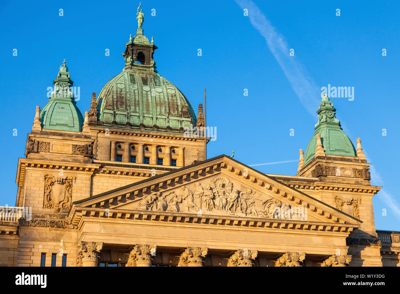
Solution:
M 132 211 L 146 216 L 184 214 L 195 218 L 347 224 L 353 228 L 361 223 L 227 156 L 74 202 L 70 217 L 77 210 L 90 209 L 107 209 L 117 215 Z

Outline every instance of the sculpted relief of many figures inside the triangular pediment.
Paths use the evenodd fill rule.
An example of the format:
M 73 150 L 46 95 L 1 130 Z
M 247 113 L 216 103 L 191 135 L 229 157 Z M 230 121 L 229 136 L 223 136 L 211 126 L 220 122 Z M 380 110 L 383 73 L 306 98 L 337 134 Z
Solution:
M 144 195 L 136 210 L 183 212 L 197 215 L 252 216 L 304 219 L 306 212 L 294 211 L 278 199 L 260 194 L 223 176 L 205 179 L 168 192 Z

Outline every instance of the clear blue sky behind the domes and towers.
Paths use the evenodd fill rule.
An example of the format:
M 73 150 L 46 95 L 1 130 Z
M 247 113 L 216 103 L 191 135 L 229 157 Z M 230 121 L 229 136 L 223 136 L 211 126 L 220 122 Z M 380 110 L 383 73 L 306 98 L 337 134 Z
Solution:
M 0 4 L 1 204 L 15 204 L 18 157 L 24 156 L 35 107 L 46 104 L 47 87 L 62 60 L 74 86 L 80 86 L 77 104 L 83 113 L 92 92 L 98 94 L 121 72 L 120 54 L 136 32 L 137 6 L 110 1 Z M 252 19 L 244 16 L 247 6 Z M 274 34 L 268 35 L 271 27 L 266 29 L 259 14 L 254 17 L 257 7 Z M 376 228 L 400 230 L 398 1 L 142 1 L 142 8 L 144 34 L 154 36 L 159 48 L 154 54 L 158 73 L 178 86 L 195 109 L 207 89 L 207 123 L 217 128 L 209 158 L 234 150 L 235 159 L 248 165 L 298 160 L 298 150 L 306 149 L 314 132 L 320 88 L 354 87 L 353 101 L 331 99 L 336 118 L 353 144 L 361 137 L 373 165 L 371 182 L 384 186 L 373 198 Z M 156 16 L 151 16 L 153 8 Z M 294 49 L 294 56 L 273 52 L 286 47 Z M 302 81 L 298 74 L 308 87 L 296 86 Z M 256 168 L 296 174 L 297 162 Z

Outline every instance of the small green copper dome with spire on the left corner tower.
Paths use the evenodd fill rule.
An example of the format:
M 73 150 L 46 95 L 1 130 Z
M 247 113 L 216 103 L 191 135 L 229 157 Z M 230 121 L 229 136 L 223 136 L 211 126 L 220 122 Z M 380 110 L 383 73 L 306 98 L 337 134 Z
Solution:
M 49 101 L 40 112 L 43 129 L 82 132 L 84 118 L 71 91 L 73 83 L 64 60 Z

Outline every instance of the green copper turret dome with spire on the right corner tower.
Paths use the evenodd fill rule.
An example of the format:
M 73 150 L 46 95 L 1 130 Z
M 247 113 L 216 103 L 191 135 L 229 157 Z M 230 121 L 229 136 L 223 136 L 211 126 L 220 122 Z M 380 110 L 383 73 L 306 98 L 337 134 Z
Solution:
M 324 91 L 322 102 L 317 111 L 318 123 L 315 125 L 314 136 L 312 136 L 310 143 L 308 143 L 306 153 L 304 154 L 304 164 L 315 157 L 317 134 L 321 135 L 322 147 L 326 155 L 356 157 L 356 149 L 340 127 L 339 120 L 335 118 L 335 112 L 336 109 L 333 108 L 333 103 L 329 101 Z

